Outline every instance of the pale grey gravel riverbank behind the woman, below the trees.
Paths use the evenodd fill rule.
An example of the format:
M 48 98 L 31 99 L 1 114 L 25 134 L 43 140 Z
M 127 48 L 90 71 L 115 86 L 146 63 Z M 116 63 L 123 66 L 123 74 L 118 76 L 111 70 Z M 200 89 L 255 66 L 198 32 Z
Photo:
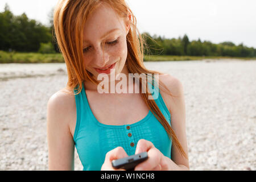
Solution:
M 256 61 L 145 64 L 183 83 L 191 170 L 256 169 Z M 47 101 L 65 87 L 65 69 L 0 64 L 0 170 L 48 169 Z

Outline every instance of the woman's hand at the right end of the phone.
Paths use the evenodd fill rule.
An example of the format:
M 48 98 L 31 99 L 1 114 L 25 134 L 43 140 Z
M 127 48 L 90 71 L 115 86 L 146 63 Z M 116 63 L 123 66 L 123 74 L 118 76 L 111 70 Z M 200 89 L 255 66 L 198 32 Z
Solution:
M 135 154 L 147 152 L 148 159 L 138 164 L 134 171 L 166 171 L 168 170 L 169 158 L 164 156 L 154 144 L 148 140 L 141 139 L 137 143 Z

